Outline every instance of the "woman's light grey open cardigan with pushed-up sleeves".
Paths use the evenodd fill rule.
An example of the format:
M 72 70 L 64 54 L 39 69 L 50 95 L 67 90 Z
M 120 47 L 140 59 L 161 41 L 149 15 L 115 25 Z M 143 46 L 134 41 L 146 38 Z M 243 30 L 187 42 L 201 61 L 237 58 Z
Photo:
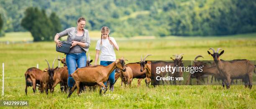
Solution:
M 57 35 L 59 35 L 59 38 L 63 36 L 68 36 L 67 41 L 72 42 L 77 35 L 77 27 L 68 28 L 60 33 L 57 33 Z M 87 52 L 90 47 L 90 36 L 89 36 L 88 30 L 84 29 L 84 35 L 82 37 L 83 38 L 80 42 L 85 43 L 85 47 L 82 47 L 82 46 L 80 47 L 82 47 L 82 49 Z

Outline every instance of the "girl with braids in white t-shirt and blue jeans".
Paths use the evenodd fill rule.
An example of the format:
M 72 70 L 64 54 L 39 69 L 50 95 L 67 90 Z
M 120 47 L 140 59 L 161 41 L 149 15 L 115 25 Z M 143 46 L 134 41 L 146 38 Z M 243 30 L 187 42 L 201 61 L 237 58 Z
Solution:
M 117 43 L 113 37 L 109 37 L 110 30 L 108 27 L 101 28 L 101 38 L 97 41 L 96 45 L 96 56 L 95 56 L 95 65 L 97 64 L 99 54 L 100 54 L 100 65 L 108 66 L 115 59 L 115 50 L 119 50 Z M 114 90 L 115 83 L 115 70 L 109 75 L 108 79 L 110 80 L 110 91 Z M 104 83 L 107 86 L 107 82 Z

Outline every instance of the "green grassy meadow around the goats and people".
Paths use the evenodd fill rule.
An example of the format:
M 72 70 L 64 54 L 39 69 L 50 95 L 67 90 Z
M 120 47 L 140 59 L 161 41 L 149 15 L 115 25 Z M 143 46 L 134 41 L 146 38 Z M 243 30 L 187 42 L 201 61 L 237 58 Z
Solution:
M 28 33 L 6 33 L 8 37 L 0 41 L 23 40 L 31 37 Z M 97 34 L 94 33 L 94 34 Z M 16 35 L 18 39 L 12 37 Z M 170 60 L 174 54 L 184 53 L 184 60 L 192 60 L 196 55 L 202 55 L 204 60 L 212 60 L 207 54 L 210 47 L 225 50 L 220 59 L 250 59 L 256 60 L 256 34 L 232 35 L 223 37 L 165 37 L 153 39 L 117 40 L 120 47 L 115 51 L 117 58 L 125 57 L 128 62 L 140 61 L 141 55 L 152 54 L 148 60 Z M 91 41 L 91 59 L 95 58 L 96 41 Z M 25 95 L 24 73 L 29 67 L 39 69 L 64 54 L 55 51 L 54 42 L 36 42 L 24 44 L 0 44 L 0 63 L 5 63 L 5 96 L 3 100 L 28 100 L 28 108 L 255 108 L 256 86 L 252 89 L 243 86 L 231 86 L 223 89 L 221 86 L 159 86 L 147 88 L 144 82 L 137 87 L 137 79 L 133 79 L 131 87 L 121 87 L 120 79 L 115 84 L 113 93 L 107 92 L 102 97 L 99 91 L 83 92 L 80 97 L 76 93 L 67 99 L 67 94 L 61 93 L 59 85 L 53 94 L 33 94 L 32 87 Z M 202 60 L 202 59 L 201 59 Z M 58 62 L 55 62 L 57 66 Z M 2 71 L 2 67 L 0 68 Z M 0 73 L 2 74 L 2 73 Z M 255 74 L 253 75 L 255 78 Z M 0 75 L 2 77 L 2 75 Z M 1 84 L 2 86 L 2 81 Z M 0 88 L 2 90 L 2 87 Z

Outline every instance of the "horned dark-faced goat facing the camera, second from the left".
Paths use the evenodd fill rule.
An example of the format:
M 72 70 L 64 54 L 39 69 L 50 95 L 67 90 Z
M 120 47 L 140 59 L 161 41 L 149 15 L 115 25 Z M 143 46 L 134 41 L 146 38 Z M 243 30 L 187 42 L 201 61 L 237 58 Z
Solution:
M 46 59 L 45 59 L 46 60 Z M 54 59 L 55 61 L 56 59 Z M 44 73 L 43 75 L 43 81 L 41 82 L 41 84 L 43 84 L 44 90 L 46 92 L 46 94 L 48 94 L 48 89 L 52 89 L 53 84 L 54 84 L 54 70 L 56 70 L 56 68 L 54 69 L 54 61 L 52 63 L 52 68 L 50 68 L 49 62 L 46 60 L 47 64 L 48 64 L 48 70 L 47 73 Z M 51 91 L 52 93 L 52 91 Z

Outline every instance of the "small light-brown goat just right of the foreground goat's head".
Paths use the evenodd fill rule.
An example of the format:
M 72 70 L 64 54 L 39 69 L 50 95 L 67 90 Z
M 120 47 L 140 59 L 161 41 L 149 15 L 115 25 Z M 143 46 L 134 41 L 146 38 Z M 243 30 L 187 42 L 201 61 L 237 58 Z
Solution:
M 131 83 L 133 81 L 133 71 L 130 67 L 125 67 L 125 69 L 126 71 L 119 69 L 118 73 L 120 73 L 122 82 L 125 84 L 125 87 L 126 87 L 126 84 L 131 86 Z

